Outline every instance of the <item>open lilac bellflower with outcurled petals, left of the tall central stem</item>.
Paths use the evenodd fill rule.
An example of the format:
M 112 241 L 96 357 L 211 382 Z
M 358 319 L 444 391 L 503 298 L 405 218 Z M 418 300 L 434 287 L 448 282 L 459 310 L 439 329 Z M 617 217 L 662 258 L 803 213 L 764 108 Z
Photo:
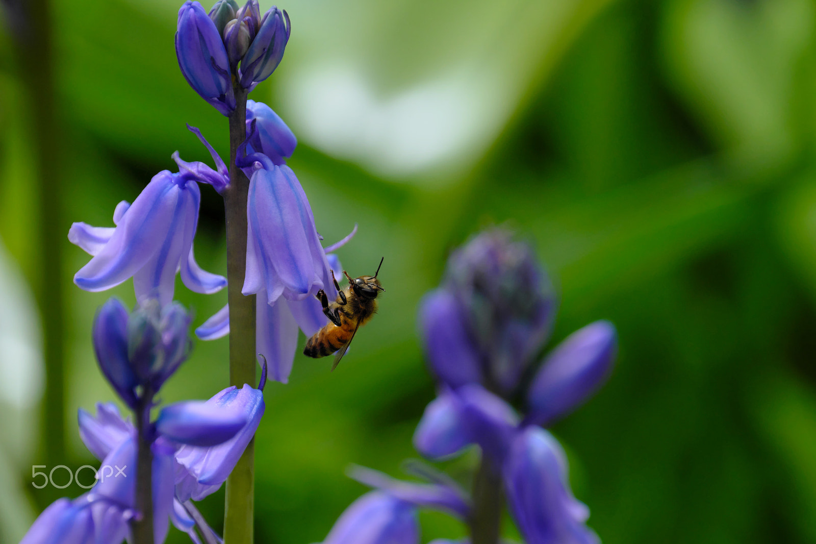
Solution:
M 197 181 L 210 180 L 184 168 L 178 173 L 159 172 L 132 205 L 118 204 L 113 212 L 115 227 L 71 225 L 68 239 L 93 256 L 74 275 L 74 283 L 96 292 L 132 276 L 136 300 L 142 304 L 157 298 L 161 305 L 173 299 L 177 271 L 194 292 L 224 288 L 227 280 L 202 270 L 193 256 L 201 201 Z

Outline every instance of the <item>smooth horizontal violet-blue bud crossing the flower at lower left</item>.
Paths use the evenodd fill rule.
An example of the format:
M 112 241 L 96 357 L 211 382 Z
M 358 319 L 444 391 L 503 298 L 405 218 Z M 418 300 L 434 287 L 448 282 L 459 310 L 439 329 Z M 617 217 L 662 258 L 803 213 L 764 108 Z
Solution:
M 246 414 L 240 410 L 188 400 L 162 408 L 156 429 L 174 442 L 206 447 L 233 438 L 246 421 Z

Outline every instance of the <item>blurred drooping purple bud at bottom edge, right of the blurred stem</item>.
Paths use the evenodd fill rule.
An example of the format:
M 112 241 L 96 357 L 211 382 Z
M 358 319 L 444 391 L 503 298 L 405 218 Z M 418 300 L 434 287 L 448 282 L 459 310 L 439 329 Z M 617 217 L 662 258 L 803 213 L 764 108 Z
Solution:
M 510 511 L 525 542 L 601 542 L 584 524 L 589 511 L 573 496 L 564 452 L 546 430 L 530 426 L 518 435 L 503 472 Z

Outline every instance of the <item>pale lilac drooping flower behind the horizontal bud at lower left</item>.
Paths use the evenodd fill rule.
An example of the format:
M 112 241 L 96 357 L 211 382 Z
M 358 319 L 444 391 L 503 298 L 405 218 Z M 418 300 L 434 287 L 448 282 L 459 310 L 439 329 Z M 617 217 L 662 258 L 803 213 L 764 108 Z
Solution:
M 265 404 L 263 392 L 248 384 L 245 384 L 242 389 L 237 389 L 235 386 L 228 387 L 206 402 L 225 409 L 241 411 L 247 421 L 232 439 L 223 444 L 211 448 L 184 446 L 175 454 L 176 461 L 193 475 L 198 484 L 214 486 L 210 491 L 212 493 L 233 471 L 238 459 L 244 453 L 246 444 L 249 444 L 255 435 L 260 418 L 264 415 Z M 179 475 L 176 475 L 176 481 L 178 480 Z M 178 493 L 178 487 L 176 490 Z M 193 500 L 198 501 L 202 498 L 202 495 L 193 495 Z

